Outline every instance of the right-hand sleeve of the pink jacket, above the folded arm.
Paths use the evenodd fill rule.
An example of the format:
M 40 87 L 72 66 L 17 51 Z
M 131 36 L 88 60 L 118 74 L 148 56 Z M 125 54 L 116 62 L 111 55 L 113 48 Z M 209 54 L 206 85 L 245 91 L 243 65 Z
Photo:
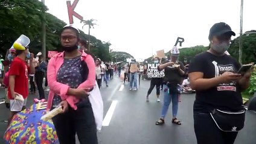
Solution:
M 96 70 L 95 70 L 95 63 L 94 59 L 91 55 L 87 55 L 85 58 L 85 62 L 89 69 L 89 74 L 87 80 L 85 82 L 81 83 L 78 88 L 93 88 L 95 85 L 96 80 Z

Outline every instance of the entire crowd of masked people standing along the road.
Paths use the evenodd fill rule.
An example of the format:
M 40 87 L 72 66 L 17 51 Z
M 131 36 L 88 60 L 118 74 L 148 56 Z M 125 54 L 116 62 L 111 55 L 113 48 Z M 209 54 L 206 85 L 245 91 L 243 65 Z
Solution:
M 191 62 L 187 59 L 184 62 L 178 60 L 179 49 L 176 46 L 170 50 L 171 55 L 167 58 L 153 58 L 153 63 L 158 64 L 158 71 L 164 70 L 164 77 L 153 77 L 150 80 L 146 94 L 146 101 L 150 101 L 150 94 L 156 86 L 156 101 L 159 102 L 161 90 L 164 92 L 164 104 L 156 125 L 165 124 L 170 104 L 171 122 L 181 125 L 182 121 L 178 119 L 181 93 L 196 92 L 193 112 L 197 143 L 234 143 L 238 131 L 245 123 L 241 92 L 249 86 L 251 71 L 237 74 L 240 64 L 226 55 L 232 35 L 235 33 L 230 26 L 216 23 L 208 37 L 210 49 L 196 55 Z M 43 61 L 42 53 L 36 56 L 30 53 L 28 46 L 14 46 L 9 50 L 7 58 L 10 64 L 4 67 L 5 79 L 8 77 L 4 85 L 8 89 L 7 100 L 10 100 L 8 122 L 16 113 L 25 109 L 28 94 L 34 94 L 36 88 L 39 100 L 45 99 L 45 77 L 45 86 L 50 88 L 48 110 L 63 107 L 62 113 L 53 118 L 59 142 L 75 143 L 77 134 L 80 143 L 98 143 L 89 92 L 96 83 L 98 88 L 103 86 L 103 82 L 108 87 L 114 75 L 122 77 L 122 70 L 123 83 L 128 81 L 129 90 L 138 91 L 138 78 L 145 78 L 147 67 L 138 64 L 136 59 L 124 64 L 112 64 L 95 58 L 88 51 L 87 42 L 80 40 L 78 29 L 72 26 L 62 29 L 60 43 L 63 52 L 57 53 L 48 62 Z M 134 68 L 134 64 L 137 67 Z M 0 68 L 2 72 L 2 65 Z M 3 74 L 1 72 L 0 76 Z M 15 102 L 18 95 L 22 95 L 24 103 Z M 229 116 L 225 113 L 229 113 Z

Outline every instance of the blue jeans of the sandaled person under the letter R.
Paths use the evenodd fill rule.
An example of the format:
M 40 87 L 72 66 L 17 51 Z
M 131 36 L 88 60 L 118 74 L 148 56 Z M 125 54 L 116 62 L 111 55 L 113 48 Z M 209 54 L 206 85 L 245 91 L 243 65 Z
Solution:
M 174 94 L 168 94 L 168 87 L 167 85 L 164 85 L 164 106 L 162 107 L 162 116 L 161 118 L 164 118 L 167 111 L 168 111 L 168 107 L 171 103 L 171 101 L 173 102 L 173 118 L 176 118 L 177 113 L 178 113 L 178 94 L 174 93 Z

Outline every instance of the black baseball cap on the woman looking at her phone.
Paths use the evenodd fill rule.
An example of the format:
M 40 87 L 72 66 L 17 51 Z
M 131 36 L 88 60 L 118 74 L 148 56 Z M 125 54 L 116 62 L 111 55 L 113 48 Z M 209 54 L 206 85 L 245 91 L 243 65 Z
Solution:
M 210 29 L 210 33 L 209 33 L 209 40 L 211 40 L 211 38 L 213 38 L 213 36 L 220 36 L 223 34 L 230 34 L 235 36 L 235 32 L 232 31 L 232 29 L 230 28 L 230 26 L 224 22 L 220 22 L 220 23 L 215 23 L 211 29 Z

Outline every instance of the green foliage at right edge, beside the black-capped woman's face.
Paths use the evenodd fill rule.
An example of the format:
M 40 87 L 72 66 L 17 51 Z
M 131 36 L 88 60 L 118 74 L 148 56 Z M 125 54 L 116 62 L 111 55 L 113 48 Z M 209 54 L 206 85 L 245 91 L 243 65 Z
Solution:
M 256 32 L 255 30 L 248 32 Z M 239 57 L 239 38 L 232 40 L 231 46 L 228 50 L 230 55 L 237 59 Z M 249 64 L 255 62 L 256 56 L 256 34 L 243 34 L 242 35 L 242 64 Z

